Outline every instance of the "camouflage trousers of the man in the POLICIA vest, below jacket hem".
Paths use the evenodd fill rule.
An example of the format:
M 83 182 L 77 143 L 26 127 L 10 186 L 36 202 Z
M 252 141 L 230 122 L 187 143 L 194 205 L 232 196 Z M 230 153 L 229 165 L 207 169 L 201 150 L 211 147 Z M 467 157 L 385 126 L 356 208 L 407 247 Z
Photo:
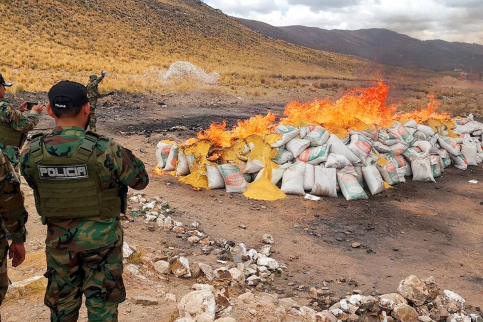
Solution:
M 77 321 L 82 295 L 89 321 L 118 320 L 118 304 L 126 298 L 121 247 L 122 240 L 86 251 L 47 248 L 44 303 L 51 321 Z

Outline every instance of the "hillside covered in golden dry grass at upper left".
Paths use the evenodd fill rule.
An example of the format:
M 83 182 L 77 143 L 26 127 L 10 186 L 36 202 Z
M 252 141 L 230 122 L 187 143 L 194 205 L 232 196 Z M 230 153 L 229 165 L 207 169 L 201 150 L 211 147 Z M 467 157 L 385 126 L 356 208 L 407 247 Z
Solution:
M 232 86 L 381 70 L 263 36 L 198 0 L 4 0 L 0 11 L 1 72 L 14 91 L 47 90 L 61 79 L 85 83 L 101 70 L 110 73 L 105 89 L 161 91 L 159 77 L 176 61 L 218 72 L 219 84 Z

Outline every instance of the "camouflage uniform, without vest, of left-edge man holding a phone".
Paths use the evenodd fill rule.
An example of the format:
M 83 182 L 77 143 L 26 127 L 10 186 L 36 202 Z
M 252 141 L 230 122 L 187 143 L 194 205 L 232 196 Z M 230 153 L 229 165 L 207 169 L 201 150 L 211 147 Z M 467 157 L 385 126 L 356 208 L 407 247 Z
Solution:
M 0 99 L 0 124 L 10 126 L 14 130 L 27 133 L 33 130 L 35 125 L 39 123 L 39 113 L 30 111 L 28 116 L 13 108 L 6 100 Z M 0 149 L 9 157 L 10 162 L 16 168 L 20 156 L 19 147 L 7 145 L 0 138 Z

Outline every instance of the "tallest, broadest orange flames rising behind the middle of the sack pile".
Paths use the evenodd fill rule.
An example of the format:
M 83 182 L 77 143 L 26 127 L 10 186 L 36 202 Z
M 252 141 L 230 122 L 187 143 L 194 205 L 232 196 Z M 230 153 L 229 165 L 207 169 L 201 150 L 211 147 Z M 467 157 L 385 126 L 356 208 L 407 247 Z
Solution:
M 334 124 L 351 130 L 354 124 L 388 125 L 393 120 L 397 105 L 386 105 L 389 86 L 379 81 L 377 87 L 354 89 L 336 102 L 328 99 L 309 103 L 291 102 L 285 107 L 283 124 L 296 124 L 300 120 L 317 124 Z M 332 127 L 332 126 L 331 126 Z

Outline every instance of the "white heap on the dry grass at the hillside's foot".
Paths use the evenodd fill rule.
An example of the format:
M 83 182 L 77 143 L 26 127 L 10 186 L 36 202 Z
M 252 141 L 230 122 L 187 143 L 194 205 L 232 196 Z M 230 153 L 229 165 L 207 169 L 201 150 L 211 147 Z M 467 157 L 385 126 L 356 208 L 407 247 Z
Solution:
M 161 79 L 164 84 L 192 80 L 203 85 L 215 85 L 218 82 L 218 78 L 219 73 L 217 72 L 206 73 L 203 69 L 188 61 L 176 61 Z

